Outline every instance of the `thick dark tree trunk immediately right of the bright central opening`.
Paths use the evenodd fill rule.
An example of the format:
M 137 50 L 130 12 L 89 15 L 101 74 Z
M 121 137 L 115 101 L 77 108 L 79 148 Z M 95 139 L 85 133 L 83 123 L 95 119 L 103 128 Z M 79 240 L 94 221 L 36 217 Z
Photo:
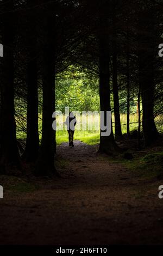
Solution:
M 111 111 L 110 106 L 110 70 L 109 70 L 109 35 L 108 35 L 108 19 L 101 15 L 100 17 L 100 35 L 99 35 L 99 96 L 101 111 L 105 113 Z M 106 124 L 106 120 L 105 120 Z M 106 154 L 114 154 L 118 151 L 117 144 L 115 143 L 114 135 L 112 132 L 111 124 L 111 135 L 103 137 L 102 131 L 100 136 L 99 152 Z

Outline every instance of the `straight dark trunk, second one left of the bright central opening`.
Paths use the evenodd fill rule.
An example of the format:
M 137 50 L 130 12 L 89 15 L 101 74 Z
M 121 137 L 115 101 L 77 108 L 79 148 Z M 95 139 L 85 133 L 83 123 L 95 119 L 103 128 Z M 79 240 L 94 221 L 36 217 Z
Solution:
M 28 0 L 28 7 L 33 7 L 33 2 Z M 38 95 L 37 95 L 37 29 L 36 13 L 30 9 L 28 13 L 28 53 L 27 64 L 27 140 L 24 158 L 28 162 L 35 162 L 39 152 L 39 132 L 38 132 Z

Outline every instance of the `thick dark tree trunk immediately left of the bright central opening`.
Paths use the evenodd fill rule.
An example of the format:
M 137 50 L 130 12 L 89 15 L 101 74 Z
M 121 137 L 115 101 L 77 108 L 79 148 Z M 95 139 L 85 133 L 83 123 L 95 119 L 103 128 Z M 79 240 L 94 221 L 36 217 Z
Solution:
M 45 10 L 44 19 L 42 140 L 36 162 L 36 175 L 55 172 L 55 132 L 52 129 L 52 114 L 55 111 L 55 16 L 51 11 Z

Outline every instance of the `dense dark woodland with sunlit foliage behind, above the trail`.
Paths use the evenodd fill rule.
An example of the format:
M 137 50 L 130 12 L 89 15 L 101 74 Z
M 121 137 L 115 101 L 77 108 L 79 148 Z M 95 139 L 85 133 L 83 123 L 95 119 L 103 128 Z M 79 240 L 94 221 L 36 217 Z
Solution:
M 1 174 L 24 162 L 33 163 L 35 175 L 56 172 L 52 113 L 66 105 L 112 111 L 115 134 L 101 136 L 100 153 L 121 153 L 121 113 L 128 138 L 130 114 L 138 114 L 140 147 L 160 138 L 162 10 L 162 0 L 0 1 Z M 26 133 L 22 154 L 20 131 Z

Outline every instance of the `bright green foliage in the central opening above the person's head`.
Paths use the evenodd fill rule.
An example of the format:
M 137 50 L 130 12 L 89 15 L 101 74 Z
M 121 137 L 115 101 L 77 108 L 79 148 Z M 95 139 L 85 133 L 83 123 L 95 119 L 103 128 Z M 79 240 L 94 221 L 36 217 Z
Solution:
M 71 75 L 62 74 L 56 81 L 56 110 L 99 111 L 98 81 L 89 80 L 86 75 L 72 70 Z M 92 84 L 93 83 L 93 84 Z

